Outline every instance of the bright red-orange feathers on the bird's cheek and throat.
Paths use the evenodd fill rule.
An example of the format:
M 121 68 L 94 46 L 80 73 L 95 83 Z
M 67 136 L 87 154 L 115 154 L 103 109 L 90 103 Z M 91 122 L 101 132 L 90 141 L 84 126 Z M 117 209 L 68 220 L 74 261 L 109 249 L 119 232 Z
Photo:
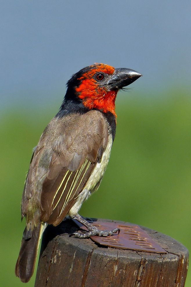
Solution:
M 110 68 L 108 74 L 113 74 L 114 68 Z M 85 107 L 89 109 L 96 108 L 103 111 L 104 113 L 111 112 L 116 117 L 115 113 L 115 100 L 118 90 L 108 91 L 104 87 L 99 87 L 96 81 L 92 78 L 92 75 L 96 70 L 91 70 L 89 75 L 86 74 L 86 77 L 81 77 L 81 84 L 76 88 L 78 97 L 82 99 L 82 102 Z

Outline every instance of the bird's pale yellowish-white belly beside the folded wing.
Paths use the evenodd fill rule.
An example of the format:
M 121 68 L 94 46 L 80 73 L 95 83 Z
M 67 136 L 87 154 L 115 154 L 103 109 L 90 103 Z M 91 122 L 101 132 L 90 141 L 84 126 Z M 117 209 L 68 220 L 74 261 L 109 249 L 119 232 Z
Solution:
M 101 162 L 96 164 L 92 174 L 90 175 L 86 185 L 84 186 L 84 189 L 78 195 L 77 202 L 70 209 L 69 215 L 77 214 L 84 200 L 88 199 L 91 193 L 93 193 L 98 189 L 99 183 L 102 180 L 102 177 L 104 175 L 104 172 L 106 170 L 109 161 L 112 143 L 113 143 L 112 136 L 109 135 L 108 144 L 105 151 L 103 152 Z

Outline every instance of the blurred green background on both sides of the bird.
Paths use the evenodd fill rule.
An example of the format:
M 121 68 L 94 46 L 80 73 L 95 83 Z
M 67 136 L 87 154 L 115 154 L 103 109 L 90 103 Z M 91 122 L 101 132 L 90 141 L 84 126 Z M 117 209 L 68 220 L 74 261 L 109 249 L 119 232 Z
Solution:
M 25 222 L 20 202 L 32 149 L 58 105 L 6 109 L 1 115 L 1 286 L 24 286 L 14 268 Z M 140 224 L 190 243 L 191 99 L 121 93 L 117 131 L 101 186 L 80 214 Z M 35 276 L 27 284 L 34 286 Z M 186 287 L 191 286 L 188 270 Z

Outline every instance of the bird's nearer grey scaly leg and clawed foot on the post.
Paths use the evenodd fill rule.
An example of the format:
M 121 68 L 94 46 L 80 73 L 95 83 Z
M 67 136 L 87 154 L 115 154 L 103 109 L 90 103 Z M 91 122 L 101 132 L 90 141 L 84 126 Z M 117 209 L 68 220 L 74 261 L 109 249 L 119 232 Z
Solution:
M 95 226 L 91 225 L 87 220 L 85 220 L 84 218 L 82 218 L 79 214 L 73 215 L 71 216 L 71 218 L 78 220 L 80 223 L 82 223 L 87 229 L 88 232 L 84 229 L 82 229 L 83 234 L 75 232 L 70 234 L 70 237 L 75 237 L 75 238 L 89 238 L 90 236 L 111 236 L 115 233 L 120 232 L 119 228 L 115 228 L 113 230 L 99 230 L 97 229 Z

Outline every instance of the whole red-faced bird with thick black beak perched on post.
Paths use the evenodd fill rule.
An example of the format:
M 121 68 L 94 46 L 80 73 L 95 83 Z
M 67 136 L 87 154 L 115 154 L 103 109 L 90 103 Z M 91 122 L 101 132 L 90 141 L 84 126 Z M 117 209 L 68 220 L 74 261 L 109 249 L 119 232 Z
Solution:
M 78 211 L 98 189 L 116 134 L 117 92 L 136 81 L 139 72 L 95 63 L 73 74 L 62 105 L 33 149 L 21 200 L 26 217 L 15 275 L 28 282 L 33 275 L 40 238 L 48 224 L 65 217 L 81 222 L 88 231 L 76 238 L 108 236 L 119 229 L 100 231 Z

